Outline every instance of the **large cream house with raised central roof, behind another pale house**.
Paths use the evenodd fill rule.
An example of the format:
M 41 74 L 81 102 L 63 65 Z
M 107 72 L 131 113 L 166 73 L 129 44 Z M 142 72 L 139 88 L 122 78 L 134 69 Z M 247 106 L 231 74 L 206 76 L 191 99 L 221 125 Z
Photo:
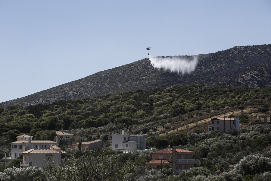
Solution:
M 50 140 L 32 140 L 33 136 L 30 135 L 20 135 L 17 136 L 17 141 L 11 142 L 11 159 L 16 159 L 20 156 L 20 153 L 30 149 L 49 149 L 50 144 L 55 144 L 58 146 L 58 138 L 56 141 Z

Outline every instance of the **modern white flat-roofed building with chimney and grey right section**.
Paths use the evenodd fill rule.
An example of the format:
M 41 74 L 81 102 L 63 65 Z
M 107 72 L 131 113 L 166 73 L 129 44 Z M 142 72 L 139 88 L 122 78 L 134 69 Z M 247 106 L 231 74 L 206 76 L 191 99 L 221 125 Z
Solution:
M 145 150 L 146 137 L 142 134 L 132 135 L 122 130 L 121 135 L 112 135 L 112 148 L 121 151 Z

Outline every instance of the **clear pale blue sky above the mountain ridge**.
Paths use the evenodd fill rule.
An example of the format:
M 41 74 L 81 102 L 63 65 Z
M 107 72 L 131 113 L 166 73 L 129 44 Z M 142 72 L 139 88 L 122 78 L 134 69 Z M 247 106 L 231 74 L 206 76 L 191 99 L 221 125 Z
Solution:
M 270 0 L 0 0 L 0 102 L 151 56 L 271 43 Z

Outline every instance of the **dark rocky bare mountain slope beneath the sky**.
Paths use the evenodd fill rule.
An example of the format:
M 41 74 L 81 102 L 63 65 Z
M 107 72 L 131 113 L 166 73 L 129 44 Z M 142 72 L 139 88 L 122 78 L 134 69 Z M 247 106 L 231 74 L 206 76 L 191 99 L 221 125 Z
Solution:
M 189 75 L 155 69 L 148 58 L 142 59 L 0 105 L 45 104 L 59 99 L 75 100 L 175 84 L 271 87 L 271 44 L 235 46 L 225 51 L 198 55 L 198 66 Z

